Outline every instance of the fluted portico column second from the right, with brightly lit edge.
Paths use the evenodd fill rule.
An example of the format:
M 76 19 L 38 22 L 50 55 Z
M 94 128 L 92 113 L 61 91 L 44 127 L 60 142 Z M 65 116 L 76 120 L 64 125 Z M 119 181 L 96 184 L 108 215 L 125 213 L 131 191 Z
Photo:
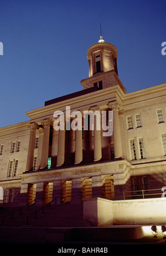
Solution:
M 102 157 L 101 152 L 101 112 L 98 106 L 91 107 L 94 112 L 94 161 L 98 161 Z

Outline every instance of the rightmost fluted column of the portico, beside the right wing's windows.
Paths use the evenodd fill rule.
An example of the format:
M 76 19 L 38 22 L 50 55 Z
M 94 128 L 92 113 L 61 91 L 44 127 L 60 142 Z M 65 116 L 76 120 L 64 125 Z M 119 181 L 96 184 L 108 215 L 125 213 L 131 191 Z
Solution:
M 120 105 L 118 102 L 111 102 L 107 105 L 113 111 L 113 147 L 115 158 L 122 157 L 122 139 L 120 130 L 120 119 L 118 111 L 120 110 Z

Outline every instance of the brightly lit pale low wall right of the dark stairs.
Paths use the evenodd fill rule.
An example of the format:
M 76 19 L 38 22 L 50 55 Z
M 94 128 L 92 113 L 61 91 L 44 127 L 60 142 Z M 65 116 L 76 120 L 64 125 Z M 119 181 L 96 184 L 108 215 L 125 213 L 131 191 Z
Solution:
M 162 225 L 166 222 L 166 198 L 111 201 L 84 199 L 84 219 L 94 226 Z

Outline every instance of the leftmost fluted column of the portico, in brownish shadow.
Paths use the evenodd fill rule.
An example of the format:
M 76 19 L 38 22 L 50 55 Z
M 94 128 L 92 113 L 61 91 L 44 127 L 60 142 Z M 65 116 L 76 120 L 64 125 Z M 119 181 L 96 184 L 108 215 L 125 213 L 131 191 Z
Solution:
M 30 128 L 29 146 L 28 146 L 28 156 L 27 156 L 27 166 L 26 170 L 31 170 L 33 168 L 33 158 L 34 158 L 34 147 L 35 147 L 35 134 L 38 124 L 32 123 L 28 126 Z

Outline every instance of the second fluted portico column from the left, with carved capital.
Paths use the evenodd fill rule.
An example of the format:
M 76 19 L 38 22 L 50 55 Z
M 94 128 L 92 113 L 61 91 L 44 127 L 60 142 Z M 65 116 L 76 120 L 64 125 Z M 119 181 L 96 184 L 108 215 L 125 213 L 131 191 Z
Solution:
M 46 168 L 46 166 L 48 165 L 50 124 L 51 121 L 48 119 L 42 122 L 42 125 L 44 127 L 44 135 L 40 169 Z

